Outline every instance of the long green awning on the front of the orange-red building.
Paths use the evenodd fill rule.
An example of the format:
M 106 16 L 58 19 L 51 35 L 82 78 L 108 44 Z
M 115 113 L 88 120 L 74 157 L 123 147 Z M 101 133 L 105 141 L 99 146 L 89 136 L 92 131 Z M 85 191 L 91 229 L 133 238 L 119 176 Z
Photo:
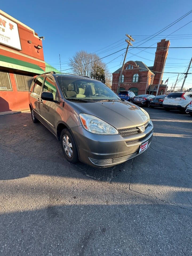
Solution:
M 4 55 L 0 55 L 0 66 L 10 69 L 23 70 L 34 74 L 42 74 L 45 72 L 38 65 L 26 61 L 20 61 L 18 59 L 14 59 Z

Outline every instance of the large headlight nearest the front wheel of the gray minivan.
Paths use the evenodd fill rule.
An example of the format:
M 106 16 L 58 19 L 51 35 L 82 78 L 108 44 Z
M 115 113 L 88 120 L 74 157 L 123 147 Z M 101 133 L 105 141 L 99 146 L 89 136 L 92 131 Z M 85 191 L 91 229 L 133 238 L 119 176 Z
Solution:
M 83 127 L 91 133 L 97 134 L 118 134 L 118 131 L 108 123 L 88 114 L 79 114 Z

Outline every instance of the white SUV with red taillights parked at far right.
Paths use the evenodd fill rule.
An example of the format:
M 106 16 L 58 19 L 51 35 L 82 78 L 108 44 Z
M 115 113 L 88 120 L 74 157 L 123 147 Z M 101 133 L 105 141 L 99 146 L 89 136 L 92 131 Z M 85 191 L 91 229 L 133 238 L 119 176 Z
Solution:
M 165 97 L 162 106 L 166 111 L 171 109 L 178 109 L 182 112 L 186 111 L 186 107 L 191 101 L 192 93 L 191 92 L 174 92 L 169 93 Z

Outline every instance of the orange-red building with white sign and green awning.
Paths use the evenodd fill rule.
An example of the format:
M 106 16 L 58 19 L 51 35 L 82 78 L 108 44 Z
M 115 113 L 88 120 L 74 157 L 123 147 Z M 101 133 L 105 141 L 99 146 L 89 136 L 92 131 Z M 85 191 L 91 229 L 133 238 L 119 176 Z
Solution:
M 29 108 L 35 75 L 54 70 L 44 61 L 42 38 L 0 10 L 0 112 Z

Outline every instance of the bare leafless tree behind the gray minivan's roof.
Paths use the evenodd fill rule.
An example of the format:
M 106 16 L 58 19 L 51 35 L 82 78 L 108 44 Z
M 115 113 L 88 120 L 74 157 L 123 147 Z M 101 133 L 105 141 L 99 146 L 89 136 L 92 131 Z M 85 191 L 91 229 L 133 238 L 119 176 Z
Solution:
M 106 63 L 102 62 L 97 54 L 77 51 L 73 57 L 69 58 L 69 61 L 73 74 L 91 78 L 94 77 L 96 67 L 101 67 L 105 70 L 106 85 L 111 87 L 111 74 L 107 69 Z

